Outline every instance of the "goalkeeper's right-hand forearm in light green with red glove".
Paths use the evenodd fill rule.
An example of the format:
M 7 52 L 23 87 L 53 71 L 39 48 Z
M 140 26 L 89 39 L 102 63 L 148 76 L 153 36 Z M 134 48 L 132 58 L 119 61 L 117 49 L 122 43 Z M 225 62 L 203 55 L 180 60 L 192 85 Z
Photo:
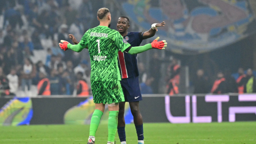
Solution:
M 125 51 L 128 52 L 129 54 L 137 54 L 137 53 L 142 53 L 150 49 L 159 49 L 159 50 L 164 50 L 165 47 L 167 47 L 167 43 L 165 40 L 157 42 L 159 37 L 157 37 L 151 44 L 146 44 L 143 46 L 135 46 L 131 47 L 131 49 L 126 49 Z

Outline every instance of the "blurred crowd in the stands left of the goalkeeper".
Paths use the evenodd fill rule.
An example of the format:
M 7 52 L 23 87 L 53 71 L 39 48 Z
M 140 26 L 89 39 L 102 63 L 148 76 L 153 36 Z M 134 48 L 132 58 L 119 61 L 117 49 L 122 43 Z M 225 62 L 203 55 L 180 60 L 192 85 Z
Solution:
M 74 90 L 88 94 L 90 63 L 82 59 L 86 53 L 64 53 L 58 42 L 71 42 L 68 33 L 81 39 L 92 27 L 92 13 L 101 7 L 97 5 L 91 0 L 0 1 L 1 95 L 19 90 L 29 95 L 31 85 L 37 85 L 39 95 L 72 95 Z

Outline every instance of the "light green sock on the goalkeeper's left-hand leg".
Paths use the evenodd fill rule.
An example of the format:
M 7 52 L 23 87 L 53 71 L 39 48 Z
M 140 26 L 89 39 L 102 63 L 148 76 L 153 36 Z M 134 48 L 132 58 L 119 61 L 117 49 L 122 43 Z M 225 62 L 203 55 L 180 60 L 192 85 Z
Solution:
M 95 109 L 92 114 L 91 124 L 90 124 L 90 136 L 95 137 L 95 133 L 100 124 L 100 118 L 103 115 L 102 111 L 99 109 Z

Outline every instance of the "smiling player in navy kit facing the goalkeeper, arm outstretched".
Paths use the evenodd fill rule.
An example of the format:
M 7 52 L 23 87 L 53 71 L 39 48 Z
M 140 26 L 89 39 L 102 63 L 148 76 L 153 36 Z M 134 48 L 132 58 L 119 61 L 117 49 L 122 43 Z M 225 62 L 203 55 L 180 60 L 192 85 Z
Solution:
M 117 21 L 117 31 L 124 37 L 124 39 L 132 46 L 139 46 L 143 39 L 153 37 L 156 34 L 157 27 L 164 26 L 165 23 L 154 23 L 152 27 L 145 32 L 128 32 L 130 27 L 130 20 L 127 17 L 119 17 Z M 121 72 L 121 85 L 124 92 L 125 102 L 129 102 L 131 112 L 133 115 L 134 125 L 138 135 L 138 143 L 144 143 L 143 139 L 143 121 L 139 110 L 139 101 L 142 100 L 139 85 L 139 70 L 137 66 L 137 54 L 129 54 L 118 52 L 118 63 Z M 124 107 L 125 102 L 119 103 L 118 114 L 118 135 L 121 144 L 126 143 L 125 135 L 125 121 L 124 121 Z

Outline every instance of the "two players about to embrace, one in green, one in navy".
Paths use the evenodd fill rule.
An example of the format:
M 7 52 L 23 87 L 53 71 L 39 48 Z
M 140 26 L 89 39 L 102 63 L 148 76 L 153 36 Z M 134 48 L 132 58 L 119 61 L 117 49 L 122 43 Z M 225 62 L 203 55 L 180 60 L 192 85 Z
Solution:
M 59 44 L 61 49 L 65 51 L 71 49 L 81 52 L 84 48 L 89 50 L 95 110 L 91 119 L 90 136 L 87 143 L 93 144 L 95 142 L 95 133 L 106 103 L 108 103 L 109 108 L 108 143 L 114 143 L 117 127 L 121 143 L 126 143 L 124 129 L 125 101 L 130 102 L 138 143 L 144 143 L 143 122 L 139 111 L 139 101 L 142 98 L 139 89 L 136 56 L 137 53 L 150 49 L 164 49 L 167 46 L 165 41 L 157 42 L 159 37 L 151 44 L 139 46 L 143 39 L 153 37 L 156 33 L 156 28 L 164 26 L 165 23 L 155 23 L 145 33 L 128 33 L 127 29 L 130 27 L 129 18 L 121 17 L 117 22 L 118 33 L 118 31 L 109 28 L 111 14 L 106 8 L 99 9 L 98 20 L 100 25 L 87 30 L 80 42 L 76 41 L 74 35 L 69 35 L 75 45 L 71 45 L 66 41 L 61 41 L 62 43 Z M 119 63 L 121 72 L 119 72 L 117 63 Z

